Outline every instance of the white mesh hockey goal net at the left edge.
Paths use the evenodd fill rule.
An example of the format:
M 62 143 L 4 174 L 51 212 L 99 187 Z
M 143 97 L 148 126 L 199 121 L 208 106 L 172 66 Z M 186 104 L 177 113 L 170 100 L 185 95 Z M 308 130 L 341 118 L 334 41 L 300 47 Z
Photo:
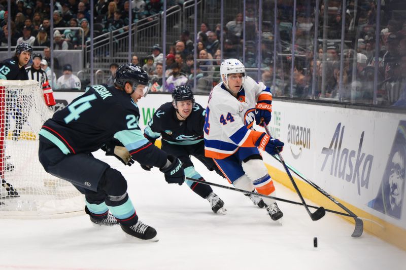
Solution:
M 0 217 L 65 216 L 83 196 L 38 160 L 39 131 L 53 110 L 36 81 L 0 80 Z

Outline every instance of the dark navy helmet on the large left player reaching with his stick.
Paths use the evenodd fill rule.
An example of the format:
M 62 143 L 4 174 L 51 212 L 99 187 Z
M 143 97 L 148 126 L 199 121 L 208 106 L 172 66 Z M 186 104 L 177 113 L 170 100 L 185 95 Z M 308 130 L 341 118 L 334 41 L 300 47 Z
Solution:
M 121 65 L 116 71 L 116 79 L 114 79 L 114 84 L 123 88 L 125 84 L 129 83 L 132 85 L 132 90 L 135 91 L 138 85 L 145 85 L 144 96 L 148 93 L 149 77 L 147 72 L 140 66 L 127 63 Z M 132 94 L 132 93 L 131 93 Z

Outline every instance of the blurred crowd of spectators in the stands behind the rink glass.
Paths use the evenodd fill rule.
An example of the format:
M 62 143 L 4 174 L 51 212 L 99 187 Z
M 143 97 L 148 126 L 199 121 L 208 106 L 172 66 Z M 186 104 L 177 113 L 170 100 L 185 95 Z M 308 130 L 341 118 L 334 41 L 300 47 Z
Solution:
M 405 106 L 406 1 L 275 1 L 17 0 L 9 14 L 0 0 L 0 58 L 8 42 L 29 43 L 56 78 L 70 65 L 82 89 L 131 61 L 153 92 L 199 94 L 237 58 L 276 97 Z

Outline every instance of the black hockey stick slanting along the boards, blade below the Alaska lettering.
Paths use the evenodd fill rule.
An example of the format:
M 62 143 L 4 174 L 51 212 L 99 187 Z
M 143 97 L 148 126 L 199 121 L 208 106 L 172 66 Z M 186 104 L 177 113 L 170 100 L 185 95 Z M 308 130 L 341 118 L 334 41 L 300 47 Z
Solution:
M 276 159 L 277 161 L 279 161 L 280 163 L 282 163 L 282 161 L 278 158 L 273 156 L 274 159 Z M 352 211 L 350 211 L 350 209 L 348 209 L 347 207 L 345 207 L 343 204 L 341 204 L 339 201 L 335 200 L 331 195 L 329 195 L 323 188 L 321 188 L 320 186 L 316 185 L 314 182 L 312 182 L 311 180 L 307 179 L 306 176 L 304 176 L 303 174 L 301 174 L 300 172 L 298 172 L 295 168 L 293 168 L 292 166 L 290 166 L 289 164 L 285 163 L 285 165 L 292 170 L 297 176 L 299 176 L 304 182 L 310 184 L 312 187 L 314 187 L 317 191 L 319 191 L 321 194 L 323 194 L 325 197 L 327 197 L 328 199 L 330 199 L 330 201 L 332 201 L 333 203 L 335 203 L 337 206 L 341 207 L 344 211 L 346 211 L 348 213 L 348 215 L 341 213 L 341 215 L 344 216 L 349 216 L 354 218 L 355 220 L 355 229 L 354 232 L 352 233 L 352 237 L 360 237 L 362 235 L 363 229 L 364 229 L 364 222 L 356 215 L 354 214 Z M 326 211 L 328 211 L 327 209 L 325 209 Z M 331 211 L 328 211 L 331 212 Z

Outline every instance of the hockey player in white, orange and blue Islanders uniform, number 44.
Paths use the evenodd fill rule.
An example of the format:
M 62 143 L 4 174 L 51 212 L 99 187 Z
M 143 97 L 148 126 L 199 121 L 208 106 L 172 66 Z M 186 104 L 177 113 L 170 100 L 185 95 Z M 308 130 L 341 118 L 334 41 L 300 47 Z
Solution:
M 269 87 L 246 76 L 237 59 L 221 63 L 222 83 L 212 90 L 204 127 L 205 155 L 213 158 L 235 187 L 275 196 L 275 186 L 262 162 L 259 149 L 270 155 L 282 151 L 284 143 L 252 129 L 268 124 L 272 112 Z M 273 220 L 283 216 L 275 200 L 263 198 Z

